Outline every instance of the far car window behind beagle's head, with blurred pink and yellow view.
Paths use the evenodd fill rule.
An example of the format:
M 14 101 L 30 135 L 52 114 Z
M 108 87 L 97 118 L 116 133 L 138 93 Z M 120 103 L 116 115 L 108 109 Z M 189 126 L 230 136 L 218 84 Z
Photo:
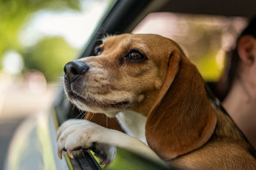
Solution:
M 216 81 L 225 66 L 225 55 L 233 48 L 246 18 L 179 13 L 150 13 L 132 31 L 171 38 L 196 64 L 206 81 Z

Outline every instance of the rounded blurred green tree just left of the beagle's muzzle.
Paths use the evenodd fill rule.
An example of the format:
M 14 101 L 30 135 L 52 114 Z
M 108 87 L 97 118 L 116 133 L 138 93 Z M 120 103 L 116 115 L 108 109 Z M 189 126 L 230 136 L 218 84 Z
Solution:
M 64 65 L 76 57 L 76 50 L 60 37 L 44 38 L 24 53 L 26 69 L 37 69 L 47 81 L 56 81 Z

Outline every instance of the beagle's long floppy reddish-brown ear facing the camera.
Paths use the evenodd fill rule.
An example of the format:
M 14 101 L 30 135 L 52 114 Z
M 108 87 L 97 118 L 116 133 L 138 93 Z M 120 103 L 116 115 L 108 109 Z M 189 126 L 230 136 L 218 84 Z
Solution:
M 204 80 L 181 52 L 173 51 L 163 87 L 147 117 L 148 146 L 170 160 L 204 145 L 215 126 L 216 113 Z

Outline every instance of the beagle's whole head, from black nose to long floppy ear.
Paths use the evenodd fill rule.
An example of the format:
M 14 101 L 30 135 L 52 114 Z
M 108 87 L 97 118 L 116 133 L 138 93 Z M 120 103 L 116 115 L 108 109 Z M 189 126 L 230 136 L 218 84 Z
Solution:
M 211 137 L 216 115 L 204 80 L 175 42 L 122 34 L 104 39 L 95 54 L 65 66 L 65 91 L 78 108 L 109 117 L 122 110 L 145 115 L 147 143 L 165 160 Z

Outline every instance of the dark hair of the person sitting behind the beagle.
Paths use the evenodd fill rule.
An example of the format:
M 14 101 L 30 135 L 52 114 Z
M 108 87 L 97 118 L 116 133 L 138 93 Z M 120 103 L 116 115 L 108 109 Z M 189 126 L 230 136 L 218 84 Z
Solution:
M 245 35 L 250 35 L 256 38 L 256 16 L 252 18 L 247 27 L 238 36 L 235 48 L 227 53 L 225 69 L 220 81 L 218 81 L 214 87 L 214 94 L 216 97 L 218 97 L 218 99 L 220 99 L 220 101 L 225 99 L 238 74 L 241 59 L 239 57 L 239 53 L 237 52 L 237 43 L 239 39 Z

